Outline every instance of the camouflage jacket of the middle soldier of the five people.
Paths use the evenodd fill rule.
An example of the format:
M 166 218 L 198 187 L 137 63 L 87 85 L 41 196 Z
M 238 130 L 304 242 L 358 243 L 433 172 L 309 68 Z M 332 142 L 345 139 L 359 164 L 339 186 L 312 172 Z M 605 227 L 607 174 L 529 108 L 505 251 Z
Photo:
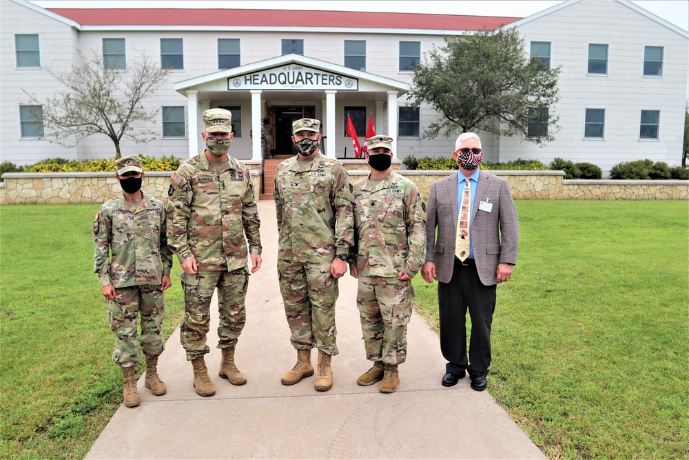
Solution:
M 305 166 L 282 161 L 275 177 L 278 259 L 330 263 L 353 238 L 352 186 L 342 163 L 320 152 Z

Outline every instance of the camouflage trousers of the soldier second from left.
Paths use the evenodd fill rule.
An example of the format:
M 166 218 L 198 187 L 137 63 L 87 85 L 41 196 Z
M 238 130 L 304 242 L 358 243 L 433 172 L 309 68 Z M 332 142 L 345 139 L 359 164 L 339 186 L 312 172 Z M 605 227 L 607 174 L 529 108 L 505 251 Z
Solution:
M 244 304 L 249 285 L 246 267 L 232 272 L 203 271 L 182 274 L 184 289 L 184 321 L 180 328 L 180 340 L 191 361 L 210 352 L 206 334 L 210 330 L 210 306 L 213 292 L 218 288 L 218 348 L 231 348 L 237 343 L 247 322 Z

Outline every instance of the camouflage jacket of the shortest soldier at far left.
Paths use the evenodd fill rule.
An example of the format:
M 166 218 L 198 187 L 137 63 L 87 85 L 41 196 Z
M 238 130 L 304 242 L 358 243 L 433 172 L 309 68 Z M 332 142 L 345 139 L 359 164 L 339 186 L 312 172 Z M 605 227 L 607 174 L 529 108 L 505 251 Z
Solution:
M 143 199 L 136 208 L 120 196 L 105 201 L 96 213 L 93 272 L 99 274 L 101 286 L 158 285 L 164 274 L 170 274 L 172 250 L 167 247 L 165 205 L 141 193 Z

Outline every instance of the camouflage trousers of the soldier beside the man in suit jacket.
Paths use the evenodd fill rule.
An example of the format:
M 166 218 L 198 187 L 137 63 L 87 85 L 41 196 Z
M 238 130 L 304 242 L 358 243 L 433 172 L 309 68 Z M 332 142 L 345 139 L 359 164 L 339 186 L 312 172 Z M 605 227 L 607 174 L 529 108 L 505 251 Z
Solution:
M 407 324 L 414 290 L 409 281 L 359 276 L 356 303 L 366 359 L 401 364 L 407 359 Z

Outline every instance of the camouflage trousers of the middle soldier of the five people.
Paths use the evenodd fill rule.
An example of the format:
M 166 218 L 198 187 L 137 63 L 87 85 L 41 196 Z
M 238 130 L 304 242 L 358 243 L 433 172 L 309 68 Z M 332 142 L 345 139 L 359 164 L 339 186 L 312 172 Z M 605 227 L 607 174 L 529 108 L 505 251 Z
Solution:
M 338 354 L 335 301 L 340 291 L 330 263 L 278 259 L 278 277 L 292 346 Z

